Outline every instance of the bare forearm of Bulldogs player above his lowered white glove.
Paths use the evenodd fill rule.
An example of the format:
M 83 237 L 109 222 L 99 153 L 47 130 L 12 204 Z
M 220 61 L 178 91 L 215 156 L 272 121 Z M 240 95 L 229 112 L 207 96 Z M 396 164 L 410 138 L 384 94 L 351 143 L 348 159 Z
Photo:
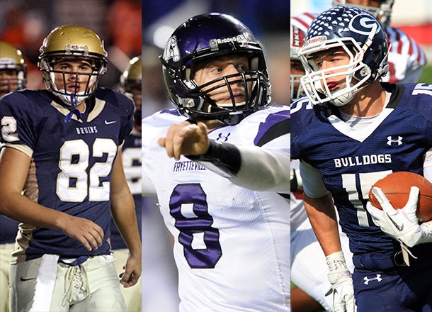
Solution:
M 303 200 L 307 216 L 324 254 L 327 256 L 340 251 L 341 240 L 331 195 L 313 199 L 304 194 Z

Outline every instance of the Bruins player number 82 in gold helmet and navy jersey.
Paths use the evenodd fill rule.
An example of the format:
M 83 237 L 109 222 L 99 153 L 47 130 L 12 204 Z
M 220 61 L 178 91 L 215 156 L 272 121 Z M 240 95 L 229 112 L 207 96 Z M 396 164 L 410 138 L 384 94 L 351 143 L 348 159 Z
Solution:
M 11 311 L 126 311 L 119 284 L 141 272 L 140 235 L 120 146 L 133 128 L 127 96 L 98 88 L 102 40 L 82 26 L 47 35 L 38 66 L 46 90 L 0 100 L 0 213 L 21 221 L 11 265 Z M 30 160 L 37 201 L 21 195 Z M 120 283 L 110 213 L 130 256 Z

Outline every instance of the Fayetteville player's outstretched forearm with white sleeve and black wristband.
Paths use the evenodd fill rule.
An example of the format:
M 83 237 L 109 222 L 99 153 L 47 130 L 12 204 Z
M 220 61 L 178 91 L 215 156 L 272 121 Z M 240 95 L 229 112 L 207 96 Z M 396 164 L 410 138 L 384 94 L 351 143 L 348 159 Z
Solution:
M 211 140 L 205 155 L 188 157 L 246 189 L 288 194 L 288 153 L 272 152 L 257 146 L 237 147 Z

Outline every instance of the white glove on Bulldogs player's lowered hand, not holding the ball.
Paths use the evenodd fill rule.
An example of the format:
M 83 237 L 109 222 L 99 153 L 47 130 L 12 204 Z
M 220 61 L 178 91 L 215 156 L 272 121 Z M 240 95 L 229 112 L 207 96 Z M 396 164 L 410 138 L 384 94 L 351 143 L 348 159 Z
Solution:
M 334 252 L 326 257 L 330 273 L 327 275 L 331 284 L 330 291 L 326 294 L 333 296 L 334 312 L 356 312 L 354 299 L 354 287 L 351 273 L 346 267 L 343 252 Z

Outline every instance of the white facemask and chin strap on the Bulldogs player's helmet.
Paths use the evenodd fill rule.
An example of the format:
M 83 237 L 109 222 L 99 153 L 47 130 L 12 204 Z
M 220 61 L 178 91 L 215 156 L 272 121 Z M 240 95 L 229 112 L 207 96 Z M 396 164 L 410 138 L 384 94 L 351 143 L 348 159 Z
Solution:
M 372 76 L 372 72 L 370 67 L 365 65 L 362 61 L 365 51 L 368 50 L 372 43 L 376 30 L 377 24 L 374 24 L 363 47 L 360 47 L 353 38 L 347 37 L 312 43 L 300 49 L 299 58 L 306 70 L 305 76 L 303 76 L 300 81 L 312 104 L 324 104 L 329 101 L 336 106 L 343 106 L 348 104 L 358 91 L 366 87 L 365 83 Z M 354 51 L 350 50 L 348 46 L 353 48 Z M 313 59 L 314 53 L 334 48 L 343 48 L 348 54 L 350 57 L 348 65 L 319 70 L 319 67 L 315 64 Z M 339 71 L 340 69 L 346 69 L 346 71 L 333 74 L 329 73 Z M 336 91 L 330 91 L 326 79 L 341 76 L 345 76 L 346 85 Z M 378 74 L 377 77 L 379 76 Z M 353 81 L 353 78 L 355 81 Z

